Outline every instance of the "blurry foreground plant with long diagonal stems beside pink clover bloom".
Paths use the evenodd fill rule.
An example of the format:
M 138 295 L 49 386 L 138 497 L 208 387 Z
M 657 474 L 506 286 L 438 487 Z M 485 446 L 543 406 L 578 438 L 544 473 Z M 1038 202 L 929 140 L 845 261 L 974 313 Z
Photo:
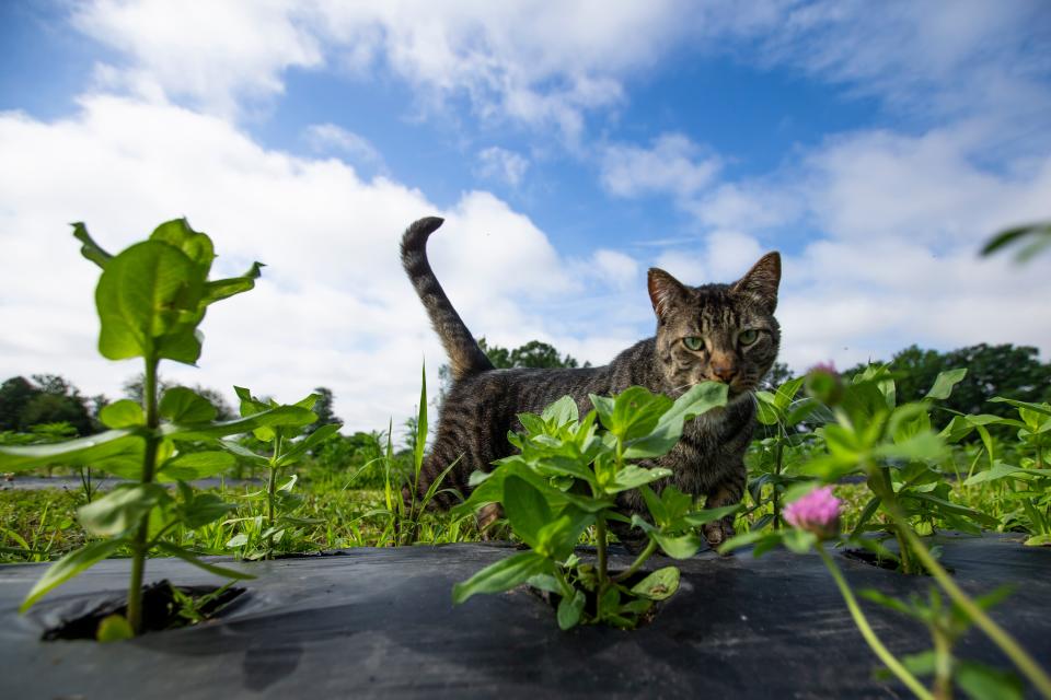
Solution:
M 864 474 L 874 495 L 862 513 L 862 523 L 848 540 L 852 544 L 873 547 L 877 553 L 892 556 L 886 548 L 879 545 L 873 546 L 866 538 L 857 537 L 857 534 L 865 529 L 882 529 L 875 524 L 873 528 L 865 526 L 877 511 L 882 513 L 887 518 L 886 528 L 899 541 L 904 572 L 929 573 L 950 598 L 956 610 L 949 614 L 952 619 L 962 616 L 981 628 L 1040 692 L 1051 698 L 1051 677 L 984 611 L 982 603 L 972 599 L 960 588 L 938 562 L 935 552 L 927 548 L 913 528 L 912 521 L 925 515 L 928 505 L 936 508 L 938 515 L 950 522 L 952 522 L 951 517 L 956 516 L 955 522 L 962 523 L 965 526 L 970 525 L 967 521 L 982 522 L 988 518 L 982 514 L 979 514 L 981 517 L 975 518 L 977 512 L 942 498 L 944 491 L 938 489 L 939 486 L 945 485 L 939 483 L 942 477 L 934 466 L 946 456 L 947 450 L 944 435 L 931 429 L 929 405 L 931 401 L 947 396 L 952 385 L 962 378 L 963 372 L 963 370 L 944 372 L 938 375 L 924 401 L 896 406 L 894 385 L 886 368 L 870 368 L 855 376 L 850 384 L 844 384 L 838 375 L 828 370 L 811 371 L 807 376 L 808 392 L 832 410 L 835 422 L 821 429 L 828 454 L 806 465 L 804 471 L 819 477 L 825 483 L 834 482 L 847 474 Z M 797 490 L 796 495 L 802 488 L 805 487 Z M 829 487 L 824 487 L 808 497 L 812 498 L 819 492 L 829 492 L 830 495 L 830 491 Z M 800 502 L 804 502 L 804 499 L 800 499 Z M 831 536 L 829 530 L 835 529 L 831 527 L 833 518 L 817 515 L 828 513 L 823 508 L 801 509 L 801 511 L 793 515 L 787 511 L 785 513 L 786 521 L 795 526 L 794 529 L 744 533 L 724 542 L 720 551 L 728 552 L 747 544 L 754 545 L 755 556 L 778 545 L 800 553 L 813 548 L 824 560 L 869 646 L 917 697 L 932 698 L 933 696 L 915 679 L 914 674 L 879 642 L 858 608 L 842 572 L 822 548 L 822 540 Z M 835 524 L 838 524 L 838 517 L 836 508 Z M 937 616 L 940 615 L 939 608 Z M 950 627 L 950 621 L 945 621 L 940 617 L 936 623 L 943 626 L 937 630 L 943 635 L 948 635 L 957 629 Z M 937 639 L 936 637 L 936 643 L 940 643 Z M 945 663 L 944 660 L 943 663 Z

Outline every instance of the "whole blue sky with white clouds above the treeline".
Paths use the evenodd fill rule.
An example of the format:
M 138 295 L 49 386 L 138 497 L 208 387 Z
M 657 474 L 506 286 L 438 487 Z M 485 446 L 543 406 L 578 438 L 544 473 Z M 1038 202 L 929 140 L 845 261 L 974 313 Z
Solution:
M 269 267 L 169 376 L 326 385 L 356 429 L 442 361 L 396 260 L 427 213 L 500 345 L 603 363 L 652 331 L 646 268 L 730 281 L 779 249 L 796 369 L 1047 358 L 1037 266 L 975 250 L 1051 215 L 1048 39 L 1039 1 L 2 3 L 0 369 L 115 395 L 135 369 L 91 357 L 65 225 L 117 248 L 183 214 Z

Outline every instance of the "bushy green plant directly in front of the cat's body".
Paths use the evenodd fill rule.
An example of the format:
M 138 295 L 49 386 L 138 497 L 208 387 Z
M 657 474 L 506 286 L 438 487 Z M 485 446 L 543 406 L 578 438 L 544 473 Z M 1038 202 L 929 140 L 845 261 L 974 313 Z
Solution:
M 458 583 L 453 602 L 529 583 L 557 597 L 562 629 L 596 622 L 621 628 L 638 625 L 656 600 L 679 587 L 675 567 L 634 581 L 649 557 L 658 548 L 677 559 L 692 557 L 701 547 L 696 528 L 738 508 L 695 511 L 693 499 L 672 486 L 658 494 L 648 485 L 671 471 L 646 466 L 646 460 L 675 445 L 684 421 L 724 406 L 726 389 L 723 384 L 704 383 L 672 402 L 633 386 L 615 397 L 592 395 L 594 410 L 582 420 L 568 396 L 540 416 L 520 415 L 523 430 L 508 435 L 519 454 L 499 460 L 489 474 L 475 472 L 475 489 L 459 510 L 473 513 L 499 503 L 528 550 Z M 649 520 L 619 512 L 617 498 L 634 489 L 640 490 Z M 608 530 L 614 521 L 646 537 L 645 548 L 621 572 L 609 568 Z M 589 527 L 594 529 L 593 562 L 574 551 Z

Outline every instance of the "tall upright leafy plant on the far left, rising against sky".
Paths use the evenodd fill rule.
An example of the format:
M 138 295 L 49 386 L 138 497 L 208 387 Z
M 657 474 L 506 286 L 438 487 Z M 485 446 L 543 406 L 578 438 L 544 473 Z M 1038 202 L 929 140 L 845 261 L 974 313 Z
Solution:
M 158 226 L 149 240 L 118 255 L 103 250 L 83 224 L 73 224 L 81 253 L 102 268 L 95 289 L 101 322 L 99 351 L 109 360 L 139 358 L 145 365 L 143 401 L 120 400 L 106 406 L 100 420 L 109 430 L 68 442 L 0 447 L 0 470 L 23 471 L 47 464 L 91 467 L 129 479 L 78 511 L 84 528 L 96 537 L 55 562 L 30 591 L 24 611 L 47 592 L 117 551 L 131 553 L 127 622 L 138 631 L 142 621 L 142 580 L 151 550 L 178 557 L 212 573 L 251 578 L 208 564 L 164 539 L 176 525 L 198 527 L 230 510 L 215 494 L 196 494 L 185 481 L 227 469 L 233 458 L 222 450 L 182 452 L 190 443 L 212 446 L 223 435 L 245 432 L 309 411 L 280 408 L 250 418 L 215 422 L 216 409 L 194 392 L 176 387 L 159 396 L 161 360 L 194 364 L 200 357 L 197 330 L 210 304 L 247 291 L 259 276 L 255 264 L 243 276 L 209 280 L 215 259 L 211 240 L 190 229 L 185 219 Z M 161 486 L 175 481 L 177 497 Z

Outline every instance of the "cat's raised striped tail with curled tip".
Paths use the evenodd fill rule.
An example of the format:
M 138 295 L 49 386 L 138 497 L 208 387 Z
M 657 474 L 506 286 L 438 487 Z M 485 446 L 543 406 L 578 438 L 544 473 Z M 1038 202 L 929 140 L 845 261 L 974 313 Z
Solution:
M 493 369 L 474 336 L 467 330 L 460 314 L 452 307 L 446 291 L 438 283 L 427 261 L 427 238 L 444 223 L 438 217 L 427 217 L 412 224 L 402 236 L 402 267 L 424 302 L 430 323 L 449 355 L 452 378 L 460 380 Z

